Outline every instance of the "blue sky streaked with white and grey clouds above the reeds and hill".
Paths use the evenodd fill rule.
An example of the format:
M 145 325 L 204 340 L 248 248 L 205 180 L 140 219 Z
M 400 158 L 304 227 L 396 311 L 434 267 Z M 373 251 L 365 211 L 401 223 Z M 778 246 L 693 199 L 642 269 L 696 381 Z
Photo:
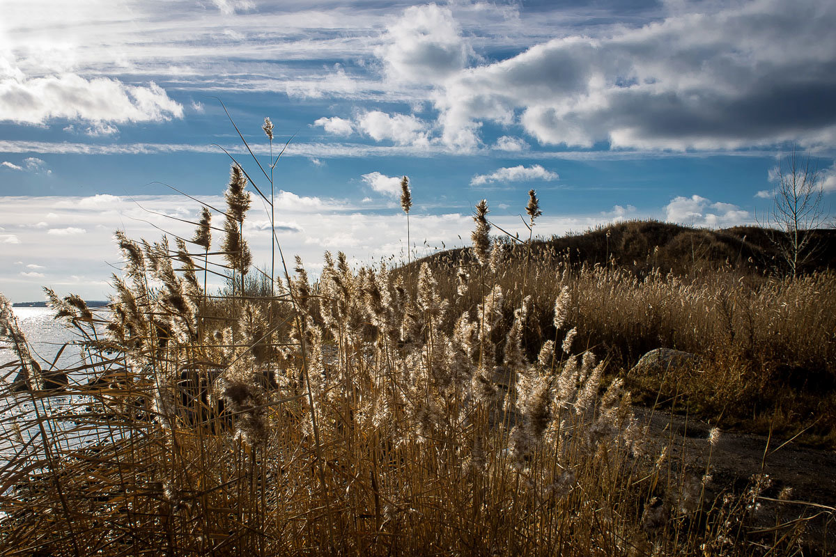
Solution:
M 191 236 L 232 162 L 283 252 L 405 259 L 627 219 L 763 221 L 793 148 L 836 199 L 832 0 L 0 0 L 0 291 L 104 299 L 122 229 Z M 226 149 L 229 153 L 224 152 Z M 177 193 L 175 188 L 181 193 Z M 186 195 L 183 195 L 186 194 Z M 220 222 L 220 220 L 218 220 Z M 247 238 L 269 264 L 255 199 Z

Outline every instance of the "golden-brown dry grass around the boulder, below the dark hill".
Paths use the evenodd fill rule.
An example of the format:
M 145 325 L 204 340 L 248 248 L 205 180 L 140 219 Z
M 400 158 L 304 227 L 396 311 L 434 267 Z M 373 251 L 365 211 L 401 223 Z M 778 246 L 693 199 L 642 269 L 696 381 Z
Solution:
M 654 251 L 647 255 L 651 262 Z M 550 312 L 567 288 L 568 322 L 579 329 L 576 345 L 609 358 L 610 373 L 620 369 L 645 403 L 676 399 L 677 408 L 687 404 L 691 413 L 714 423 L 757 433 L 771 428 L 785 438 L 806 429 L 804 442 L 836 446 L 833 271 L 793 279 L 722 265 L 710 270 L 701 261 L 699 272 L 663 274 L 614 263 L 573 264 L 567 252 L 548 245 L 535 245 L 532 252 L 528 257 L 527 246 L 506 245 L 493 279 L 514 303 L 533 296 L 524 338 L 531 357 L 545 340 L 565 333 L 555 331 Z M 431 261 L 441 291 L 454 296 L 456 267 L 472 260 L 448 252 Z M 475 296 L 461 298 L 451 315 L 476 302 Z M 506 311 L 500 335 L 510 327 L 511 314 Z M 658 347 L 697 354 L 700 373 L 626 374 Z

